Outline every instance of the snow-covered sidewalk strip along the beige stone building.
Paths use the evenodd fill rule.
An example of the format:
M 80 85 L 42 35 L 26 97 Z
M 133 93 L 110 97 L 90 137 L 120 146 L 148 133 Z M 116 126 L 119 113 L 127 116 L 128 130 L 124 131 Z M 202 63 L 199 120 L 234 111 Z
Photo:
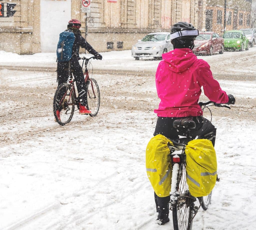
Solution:
M 119 73 L 120 71 L 129 71 L 138 73 L 146 72 L 155 73 L 159 60 L 146 59 L 135 61 L 131 56 L 130 50 L 110 51 L 101 53 L 102 60 L 92 60 L 93 70 L 98 74 L 104 73 L 104 70 L 109 70 L 111 74 Z M 80 54 L 80 57 L 92 56 L 91 54 Z M 35 53 L 33 55 L 18 55 L 0 51 L 0 68 L 10 70 L 28 70 L 28 71 L 56 71 L 56 53 Z M 82 64 L 82 60 L 80 60 Z

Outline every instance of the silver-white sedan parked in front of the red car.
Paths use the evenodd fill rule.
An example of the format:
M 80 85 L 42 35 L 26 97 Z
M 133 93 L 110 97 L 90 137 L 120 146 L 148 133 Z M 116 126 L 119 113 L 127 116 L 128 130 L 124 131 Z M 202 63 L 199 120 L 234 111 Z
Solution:
M 135 60 L 140 57 L 154 57 L 162 59 L 162 54 L 173 50 L 169 32 L 158 32 L 147 34 L 132 46 L 132 56 Z

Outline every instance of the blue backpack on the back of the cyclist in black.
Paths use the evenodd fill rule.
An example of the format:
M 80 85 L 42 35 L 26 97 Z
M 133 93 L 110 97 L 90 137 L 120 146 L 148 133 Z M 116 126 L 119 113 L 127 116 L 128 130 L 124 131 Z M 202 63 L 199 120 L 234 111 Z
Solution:
M 71 59 L 74 41 L 75 35 L 73 32 L 64 31 L 60 33 L 56 51 L 58 62 L 68 62 Z

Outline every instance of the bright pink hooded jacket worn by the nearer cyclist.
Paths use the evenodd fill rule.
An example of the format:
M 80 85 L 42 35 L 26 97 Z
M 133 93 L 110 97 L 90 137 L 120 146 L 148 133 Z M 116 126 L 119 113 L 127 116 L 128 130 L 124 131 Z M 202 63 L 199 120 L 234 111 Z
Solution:
M 201 87 L 211 101 L 228 102 L 228 95 L 212 77 L 208 63 L 197 59 L 190 49 L 174 49 L 162 56 L 156 71 L 156 90 L 161 101 L 154 112 L 158 117 L 201 116 Z

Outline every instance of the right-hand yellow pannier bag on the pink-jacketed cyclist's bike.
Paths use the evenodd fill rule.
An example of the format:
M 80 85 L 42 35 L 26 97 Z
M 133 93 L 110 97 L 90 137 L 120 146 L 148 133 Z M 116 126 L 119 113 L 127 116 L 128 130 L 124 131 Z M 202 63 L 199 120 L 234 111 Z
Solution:
M 208 195 L 217 178 L 217 159 L 211 141 L 197 139 L 188 142 L 185 149 L 187 183 L 194 197 Z

